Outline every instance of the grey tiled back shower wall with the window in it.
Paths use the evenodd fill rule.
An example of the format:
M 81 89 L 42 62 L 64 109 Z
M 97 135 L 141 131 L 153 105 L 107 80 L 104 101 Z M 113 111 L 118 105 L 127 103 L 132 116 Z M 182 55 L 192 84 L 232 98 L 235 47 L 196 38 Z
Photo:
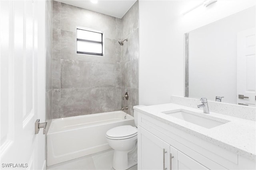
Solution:
M 104 32 L 104 56 L 76 54 L 76 26 Z M 121 19 L 53 1 L 53 118 L 121 109 Z

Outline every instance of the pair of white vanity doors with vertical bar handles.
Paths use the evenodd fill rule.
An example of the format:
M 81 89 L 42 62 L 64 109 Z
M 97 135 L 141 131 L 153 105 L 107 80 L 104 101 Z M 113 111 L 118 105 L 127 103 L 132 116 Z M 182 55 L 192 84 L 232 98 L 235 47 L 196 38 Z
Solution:
M 140 132 L 142 170 L 208 170 L 145 129 Z

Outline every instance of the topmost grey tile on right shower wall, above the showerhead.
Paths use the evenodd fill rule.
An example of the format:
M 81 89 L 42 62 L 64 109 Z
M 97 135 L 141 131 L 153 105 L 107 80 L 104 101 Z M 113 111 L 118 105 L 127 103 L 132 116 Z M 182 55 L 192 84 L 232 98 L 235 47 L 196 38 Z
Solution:
M 138 1 L 126 12 L 122 18 L 122 38 L 138 28 Z

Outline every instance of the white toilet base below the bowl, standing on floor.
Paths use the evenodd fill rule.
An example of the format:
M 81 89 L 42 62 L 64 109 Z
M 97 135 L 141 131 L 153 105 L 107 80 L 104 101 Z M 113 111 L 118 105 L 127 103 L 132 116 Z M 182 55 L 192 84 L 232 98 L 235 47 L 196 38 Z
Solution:
M 114 150 L 112 167 L 115 170 L 127 170 L 137 164 L 137 158 L 137 143 L 134 149 L 128 152 Z

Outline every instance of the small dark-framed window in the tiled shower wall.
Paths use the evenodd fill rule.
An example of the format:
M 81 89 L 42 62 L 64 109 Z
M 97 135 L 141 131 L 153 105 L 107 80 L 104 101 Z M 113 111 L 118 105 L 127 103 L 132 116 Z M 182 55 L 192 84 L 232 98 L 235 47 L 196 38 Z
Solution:
M 77 28 L 76 53 L 103 56 L 102 33 Z

